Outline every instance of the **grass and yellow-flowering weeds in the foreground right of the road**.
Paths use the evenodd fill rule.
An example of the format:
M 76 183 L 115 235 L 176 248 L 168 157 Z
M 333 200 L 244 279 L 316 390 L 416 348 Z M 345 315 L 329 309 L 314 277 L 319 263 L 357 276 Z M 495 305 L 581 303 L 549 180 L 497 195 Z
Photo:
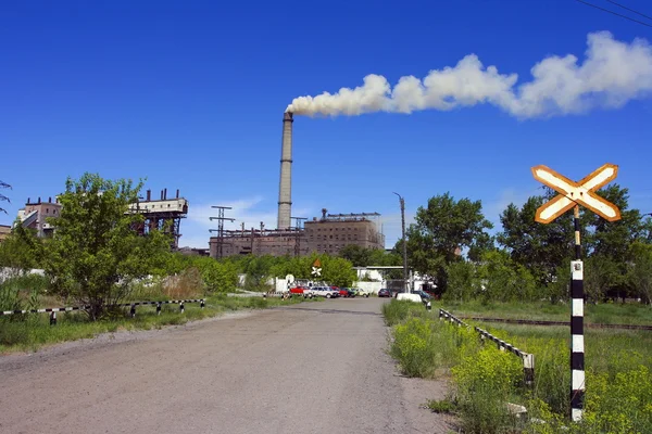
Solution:
M 386 322 L 392 326 L 390 353 L 406 375 L 450 381 L 450 396 L 429 407 L 456 414 L 463 432 L 652 432 L 652 333 L 586 331 L 586 412 L 574 424 L 568 420 L 568 328 L 466 321 L 535 355 L 530 388 L 518 357 L 482 344 L 473 330 L 440 321 L 438 307 L 426 311 L 410 302 L 385 305 Z M 527 416 L 510 412 L 506 403 L 525 406 Z

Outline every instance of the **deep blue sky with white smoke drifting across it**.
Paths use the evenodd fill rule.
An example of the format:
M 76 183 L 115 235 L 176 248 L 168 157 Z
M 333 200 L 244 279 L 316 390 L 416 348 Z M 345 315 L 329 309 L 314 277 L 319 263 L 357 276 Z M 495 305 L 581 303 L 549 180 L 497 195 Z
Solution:
M 647 1 L 625 4 L 652 15 Z M 587 38 L 605 30 L 581 69 Z M 572 0 L 3 2 L 0 180 L 13 190 L 0 224 L 27 197 L 93 171 L 180 189 L 190 202 L 181 245 L 208 246 L 211 205 L 234 206 L 227 228 L 273 228 L 281 118 L 294 98 L 360 87 L 369 74 L 393 88 L 446 67 L 453 84 L 440 98 L 418 85 L 406 105 L 394 92 L 363 101 L 374 113 L 297 115 L 292 215 L 378 212 L 391 246 L 394 191 L 409 216 L 450 192 L 481 200 L 498 224 L 510 202 L 540 193 L 530 167 L 579 180 L 604 163 L 619 165 L 630 206 L 652 212 L 651 51 L 636 38 L 652 41 L 652 28 Z M 469 54 L 484 66 L 455 69 Z M 543 63 L 532 77 L 567 54 L 576 66 Z

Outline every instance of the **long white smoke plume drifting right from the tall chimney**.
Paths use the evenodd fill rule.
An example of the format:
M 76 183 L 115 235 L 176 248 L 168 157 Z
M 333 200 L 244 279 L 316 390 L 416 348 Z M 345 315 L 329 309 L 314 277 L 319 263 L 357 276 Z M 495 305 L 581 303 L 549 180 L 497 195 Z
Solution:
M 582 64 L 572 54 L 543 59 L 534 79 L 516 86 L 516 74 L 484 67 L 468 54 L 454 67 L 434 69 L 423 78 L 404 76 L 393 87 L 380 75 L 364 77 L 355 89 L 296 98 L 286 112 L 296 115 L 361 115 L 452 110 L 489 103 L 519 118 L 616 108 L 652 91 L 652 47 L 644 39 L 617 41 L 609 31 L 589 34 Z

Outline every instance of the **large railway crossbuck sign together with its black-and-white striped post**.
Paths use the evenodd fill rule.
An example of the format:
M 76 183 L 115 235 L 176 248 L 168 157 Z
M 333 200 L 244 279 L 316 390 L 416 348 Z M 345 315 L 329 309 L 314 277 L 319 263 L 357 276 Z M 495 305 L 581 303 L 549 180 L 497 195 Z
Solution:
M 579 205 L 584 205 L 607 221 L 620 219 L 620 210 L 595 191 L 614 180 L 618 166 L 605 164 L 595 171 L 575 182 L 546 166 L 532 167 L 535 179 L 555 190 L 559 195 L 541 205 L 535 220 L 549 224 L 570 208 L 574 209 L 575 260 L 570 261 L 570 419 L 580 421 L 584 412 L 586 391 L 584 345 L 584 263 L 579 228 Z

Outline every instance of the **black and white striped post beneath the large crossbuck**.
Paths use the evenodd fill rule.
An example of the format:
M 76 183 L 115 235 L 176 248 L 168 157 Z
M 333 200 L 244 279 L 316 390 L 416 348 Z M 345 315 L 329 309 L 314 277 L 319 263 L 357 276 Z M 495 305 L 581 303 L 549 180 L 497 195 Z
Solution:
M 584 412 L 584 263 L 579 235 L 579 206 L 575 205 L 575 260 L 570 261 L 570 419 L 580 421 Z

